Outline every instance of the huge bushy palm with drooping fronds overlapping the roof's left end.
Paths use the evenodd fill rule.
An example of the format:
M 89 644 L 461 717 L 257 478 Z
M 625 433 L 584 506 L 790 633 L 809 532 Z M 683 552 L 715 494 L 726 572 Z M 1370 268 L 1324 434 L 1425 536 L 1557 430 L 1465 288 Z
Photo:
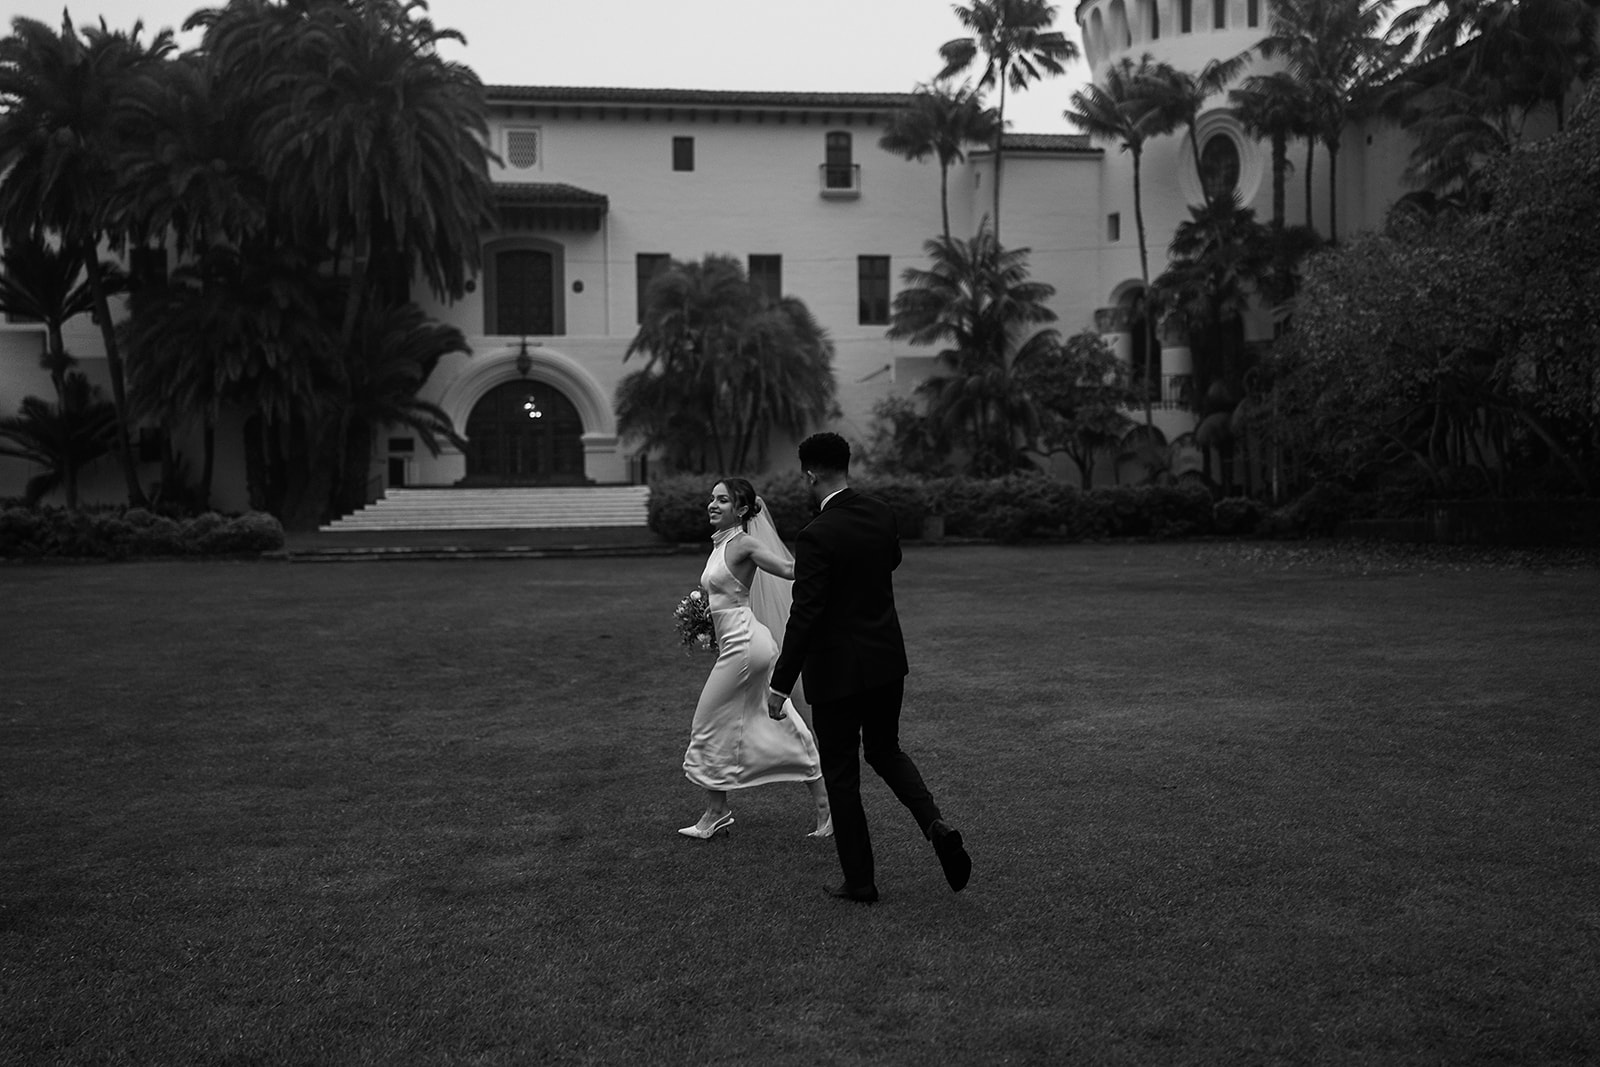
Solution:
M 419 18 L 427 5 L 416 0 L 307 3 L 301 18 L 243 6 L 242 22 L 227 10 L 202 16 L 203 50 L 218 70 L 270 90 L 251 134 L 274 208 L 301 243 L 331 240 L 349 261 L 341 350 L 382 253 L 440 298 L 462 296 L 493 224 L 493 187 L 483 85 L 438 54 L 461 35 Z

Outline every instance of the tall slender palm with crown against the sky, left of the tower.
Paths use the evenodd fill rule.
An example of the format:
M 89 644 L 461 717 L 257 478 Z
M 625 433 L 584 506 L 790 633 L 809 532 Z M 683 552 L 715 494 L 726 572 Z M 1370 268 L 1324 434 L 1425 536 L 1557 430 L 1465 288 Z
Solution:
M 1067 62 L 1078 58 L 1077 43 L 1059 30 L 1056 6 L 1046 0 L 971 0 L 968 6 L 955 5 L 955 18 L 971 30 L 971 37 L 957 37 L 939 46 L 944 69 L 939 80 L 955 77 L 984 58 L 984 74 L 979 88 L 1000 86 L 1000 106 L 995 109 L 995 240 L 1000 240 L 1000 166 L 1005 144 L 1005 94 L 1006 88 L 1027 90 L 1046 74 L 1066 74 Z

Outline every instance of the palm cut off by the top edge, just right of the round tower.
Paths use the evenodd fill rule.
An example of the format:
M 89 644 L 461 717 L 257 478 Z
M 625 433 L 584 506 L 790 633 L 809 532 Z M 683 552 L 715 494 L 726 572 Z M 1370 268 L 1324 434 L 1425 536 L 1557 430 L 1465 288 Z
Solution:
M 1392 43 L 1382 34 L 1394 2 L 1278 0 L 1272 5 L 1270 32 L 1258 45 L 1264 58 L 1288 64 L 1328 150 L 1330 242 L 1339 240 L 1339 138 L 1346 125 L 1376 107 L 1379 86 L 1410 51 L 1410 42 Z M 1309 170 L 1307 160 L 1307 182 Z

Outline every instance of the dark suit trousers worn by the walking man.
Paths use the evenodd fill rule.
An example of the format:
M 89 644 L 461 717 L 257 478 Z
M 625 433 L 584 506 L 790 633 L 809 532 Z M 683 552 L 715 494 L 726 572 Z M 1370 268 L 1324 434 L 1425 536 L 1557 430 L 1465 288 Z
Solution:
M 811 705 L 811 729 L 822 757 L 822 781 L 827 782 L 827 803 L 834 814 L 834 846 L 850 888 L 875 885 L 872 838 L 867 833 L 867 813 L 861 806 L 858 750 L 917 819 L 923 837 L 939 817 L 939 808 L 917 765 L 899 747 L 904 694 L 906 680 L 896 678 L 875 689 Z

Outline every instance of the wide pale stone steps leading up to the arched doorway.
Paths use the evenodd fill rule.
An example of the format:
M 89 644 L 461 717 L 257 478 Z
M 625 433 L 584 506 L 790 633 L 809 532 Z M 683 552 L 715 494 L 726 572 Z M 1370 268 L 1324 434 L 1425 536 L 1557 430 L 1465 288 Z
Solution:
M 648 518 L 650 486 L 541 486 L 491 490 L 389 490 L 376 502 L 318 533 L 427 530 L 637 528 Z

